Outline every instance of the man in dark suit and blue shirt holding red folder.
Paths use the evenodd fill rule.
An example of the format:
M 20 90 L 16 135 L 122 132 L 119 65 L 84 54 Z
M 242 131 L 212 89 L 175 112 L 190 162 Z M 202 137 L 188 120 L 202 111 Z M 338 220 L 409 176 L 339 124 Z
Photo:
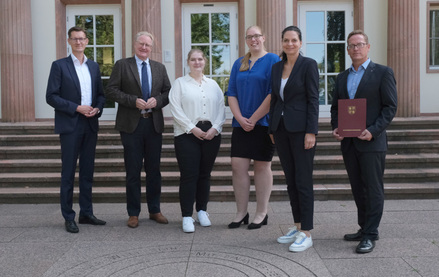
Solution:
M 387 151 L 386 128 L 396 113 L 397 92 L 393 70 L 370 61 L 367 35 L 356 30 L 348 35 L 352 66 L 337 77 L 331 107 L 333 136 L 341 151 L 358 210 L 360 230 L 345 240 L 360 241 L 357 253 L 369 253 L 378 240 L 378 226 L 384 208 L 383 175 Z M 365 98 L 366 129 L 358 137 L 338 132 L 338 100 Z

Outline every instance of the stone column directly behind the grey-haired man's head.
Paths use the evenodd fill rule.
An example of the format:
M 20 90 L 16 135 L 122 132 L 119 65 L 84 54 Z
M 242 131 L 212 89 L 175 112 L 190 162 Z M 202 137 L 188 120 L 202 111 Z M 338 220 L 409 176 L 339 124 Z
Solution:
M 147 31 L 153 34 L 154 47 L 150 58 L 162 62 L 162 17 L 160 0 L 132 0 L 131 8 L 133 40 L 140 31 Z

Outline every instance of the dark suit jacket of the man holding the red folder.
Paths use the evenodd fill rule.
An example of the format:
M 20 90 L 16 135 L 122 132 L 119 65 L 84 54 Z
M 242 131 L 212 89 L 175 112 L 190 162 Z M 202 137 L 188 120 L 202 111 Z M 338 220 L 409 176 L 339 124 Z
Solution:
M 347 78 L 349 69 L 340 73 L 335 82 L 331 106 L 332 129 L 338 127 L 338 99 L 349 99 Z M 355 148 L 361 152 L 374 152 L 387 150 L 386 129 L 396 114 L 397 92 L 393 70 L 390 67 L 369 63 L 363 78 L 358 85 L 355 98 L 365 98 L 366 129 L 372 134 L 371 141 L 353 138 Z M 349 140 L 341 141 L 341 149 L 344 151 Z

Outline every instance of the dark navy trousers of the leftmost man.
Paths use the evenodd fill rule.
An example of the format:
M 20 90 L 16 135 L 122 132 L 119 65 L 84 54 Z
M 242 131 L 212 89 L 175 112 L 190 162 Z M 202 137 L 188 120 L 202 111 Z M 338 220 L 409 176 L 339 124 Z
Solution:
M 79 116 L 75 131 L 59 135 L 61 142 L 61 213 L 65 220 L 74 220 L 73 184 L 79 156 L 79 214 L 92 215 L 92 185 L 97 132 L 90 128 L 88 119 Z

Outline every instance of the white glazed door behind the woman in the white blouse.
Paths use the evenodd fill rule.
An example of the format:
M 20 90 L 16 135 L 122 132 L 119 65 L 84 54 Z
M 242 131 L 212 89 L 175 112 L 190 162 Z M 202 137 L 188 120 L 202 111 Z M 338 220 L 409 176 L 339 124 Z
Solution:
M 199 48 L 208 59 L 204 74 L 214 79 L 225 92 L 233 63 L 238 58 L 237 4 L 183 4 L 182 29 L 183 73 L 189 70 L 187 54 L 192 48 Z M 228 107 L 226 116 L 232 118 Z

